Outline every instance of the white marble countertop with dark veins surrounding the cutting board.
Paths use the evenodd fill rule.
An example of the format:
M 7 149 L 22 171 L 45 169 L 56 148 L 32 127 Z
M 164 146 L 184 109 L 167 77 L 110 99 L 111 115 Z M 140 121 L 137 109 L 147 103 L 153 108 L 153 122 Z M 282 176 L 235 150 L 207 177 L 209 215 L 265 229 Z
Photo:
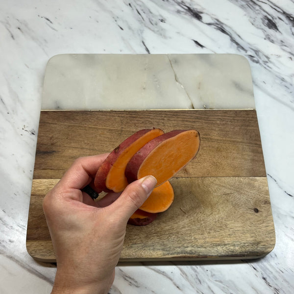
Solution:
M 294 293 L 292 0 L 0 1 L 0 293 L 49 293 L 25 249 L 44 71 L 62 53 L 236 53 L 250 63 L 276 246 L 254 261 L 120 265 L 111 294 Z

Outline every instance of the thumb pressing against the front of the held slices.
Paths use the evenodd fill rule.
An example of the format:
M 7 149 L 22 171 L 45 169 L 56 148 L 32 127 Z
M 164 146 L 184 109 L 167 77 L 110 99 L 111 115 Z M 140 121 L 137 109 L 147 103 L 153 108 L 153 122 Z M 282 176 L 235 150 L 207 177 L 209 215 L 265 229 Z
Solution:
M 125 222 L 145 202 L 153 191 L 157 180 L 152 175 L 147 175 L 129 184 L 121 196 L 111 204 L 111 209 L 118 221 Z M 110 207 L 109 207 L 110 208 Z

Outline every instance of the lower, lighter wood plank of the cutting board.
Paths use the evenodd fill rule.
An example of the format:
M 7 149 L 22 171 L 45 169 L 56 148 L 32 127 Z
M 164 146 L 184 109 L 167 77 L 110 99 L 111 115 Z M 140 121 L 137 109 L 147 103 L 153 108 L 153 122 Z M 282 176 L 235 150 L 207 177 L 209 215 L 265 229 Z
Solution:
M 55 256 L 42 200 L 56 179 L 35 179 L 27 251 Z M 172 206 L 151 224 L 127 225 L 120 261 L 257 258 L 275 244 L 266 177 L 172 178 Z M 249 188 L 249 189 L 248 189 Z

